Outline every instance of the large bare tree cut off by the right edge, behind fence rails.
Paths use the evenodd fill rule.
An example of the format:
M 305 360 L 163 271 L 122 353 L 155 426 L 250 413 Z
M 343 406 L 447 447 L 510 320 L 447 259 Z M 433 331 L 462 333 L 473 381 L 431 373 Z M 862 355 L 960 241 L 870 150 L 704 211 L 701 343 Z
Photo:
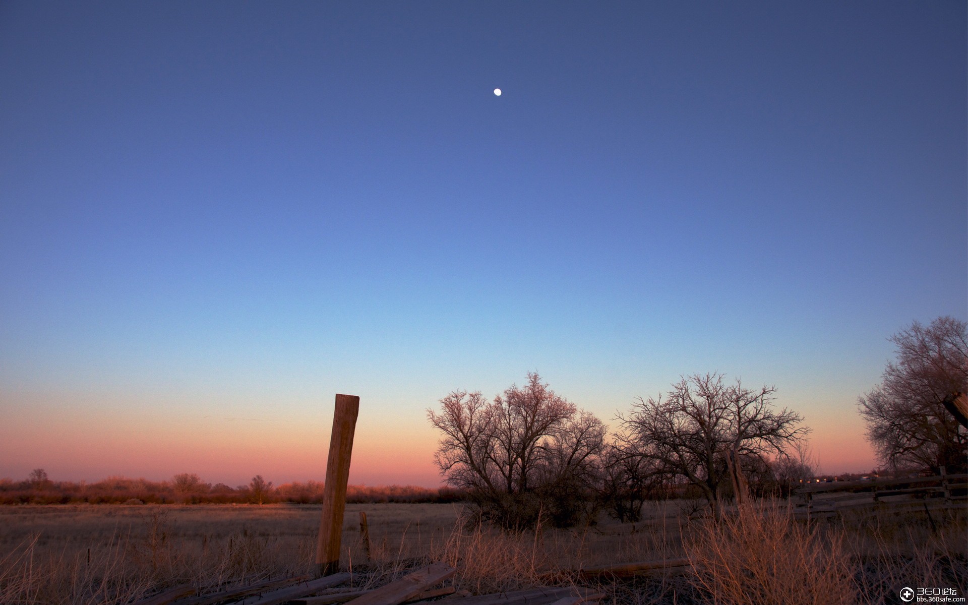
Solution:
M 891 337 L 896 361 L 888 362 L 880 384 L 858 401 L 867 439 L 881 464 L 893 469 L 964 471 L 968 430 L 946 401 L 968 391 L 966 323 L 936 318 L 918 321 Z

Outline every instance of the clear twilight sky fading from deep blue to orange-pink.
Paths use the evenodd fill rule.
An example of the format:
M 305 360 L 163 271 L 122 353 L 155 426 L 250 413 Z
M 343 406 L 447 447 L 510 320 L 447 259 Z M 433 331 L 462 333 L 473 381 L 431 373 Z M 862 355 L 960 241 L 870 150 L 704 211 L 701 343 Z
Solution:
M 528 372 L 719 372 L 826 472 L 968 318 L 964 2 L 2 2 L 0 477 L 436 486 Z M 495 88 L 502 94 L 496 96 Z

